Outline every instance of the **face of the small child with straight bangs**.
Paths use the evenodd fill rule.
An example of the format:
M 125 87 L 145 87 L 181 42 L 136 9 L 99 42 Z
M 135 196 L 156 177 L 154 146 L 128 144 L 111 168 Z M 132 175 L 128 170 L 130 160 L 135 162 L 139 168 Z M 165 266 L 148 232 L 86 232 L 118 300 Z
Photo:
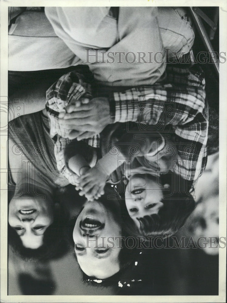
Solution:
M 158 214 L 163 207 L 162 189 L 154 176 L 149 174 L 134 175 L 130 178 L 125 190 L 125 203 L 130 217 L 138 228 L 140 224 L 137 218 Z

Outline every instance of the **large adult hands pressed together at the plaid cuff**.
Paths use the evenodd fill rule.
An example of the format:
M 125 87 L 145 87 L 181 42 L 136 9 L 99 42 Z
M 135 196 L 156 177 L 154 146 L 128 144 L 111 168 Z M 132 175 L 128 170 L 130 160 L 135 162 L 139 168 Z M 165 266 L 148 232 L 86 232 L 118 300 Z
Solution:
M 112 123 L 108 98 L 93 98 L 87 104 L 80 106 L 68 105 L 66 114 L 61 114 L 59 125 L 73 129 L 69 138 L 82 140 L 97 135 Z

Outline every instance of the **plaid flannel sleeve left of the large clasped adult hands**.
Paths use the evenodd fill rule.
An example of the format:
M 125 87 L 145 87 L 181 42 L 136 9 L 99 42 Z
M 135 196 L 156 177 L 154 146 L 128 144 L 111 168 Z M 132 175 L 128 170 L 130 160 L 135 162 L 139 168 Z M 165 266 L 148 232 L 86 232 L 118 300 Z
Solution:
M 71 142 L 68 138 L 71 130 L 64 129 L 62 126 L 60 127 L 58 115 L 59 112 L 66 112 L 66 106 L 75 100 L 79 100 L 81 97 L 92 98 L 91 86 L 85 83 L 83 76 L 75 71 L 63 75 L 46 92 L 46 111 L 49 117 L 50 136 L 55 141 L 54 155 L 57 168 L 61 175 L 67 178 L 73 185 L 78 184 L 78 176 L 67 168 L 64 159 L 66 145 Z M 99 135 L 86 140 L 86 142 L 93 147 L 97 147 L 99 144 Z

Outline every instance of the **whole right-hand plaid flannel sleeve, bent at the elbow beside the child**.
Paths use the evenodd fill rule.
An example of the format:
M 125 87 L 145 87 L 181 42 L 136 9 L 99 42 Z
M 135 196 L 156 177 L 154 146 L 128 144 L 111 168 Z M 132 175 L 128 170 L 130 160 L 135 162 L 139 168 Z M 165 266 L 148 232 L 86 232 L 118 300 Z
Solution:
M 174 129 L 178 161 L 174 171 L 196 183 L 203 173 L 208 137 L 208 107 L 201 68 L 167 67 L 165 84 L 135 87 L 110 95 L 115 122 L 137 122 L 141 129 Z M 186 148 L 186 146 L 190 148 Z

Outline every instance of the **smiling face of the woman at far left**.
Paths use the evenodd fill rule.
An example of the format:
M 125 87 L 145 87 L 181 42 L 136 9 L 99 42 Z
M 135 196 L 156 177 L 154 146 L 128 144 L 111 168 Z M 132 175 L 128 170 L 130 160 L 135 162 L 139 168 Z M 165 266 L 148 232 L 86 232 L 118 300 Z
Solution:
M 43 244 L 44 232 L 53 223 L 53 204 L 31 197 L 12 199 L 8 222 L 21 238 L 24 247 L 39 248 Z

